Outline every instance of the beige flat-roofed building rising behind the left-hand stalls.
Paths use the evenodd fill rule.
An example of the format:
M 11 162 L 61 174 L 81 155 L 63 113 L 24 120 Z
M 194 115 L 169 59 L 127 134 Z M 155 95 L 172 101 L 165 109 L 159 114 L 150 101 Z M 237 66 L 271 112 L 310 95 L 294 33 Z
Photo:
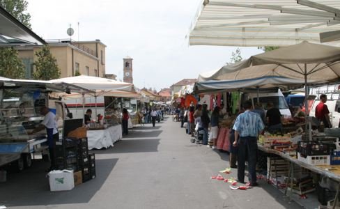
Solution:
M 105 47 L 100 40 L 80 41 L 46 40 L 52 55 L 61 69 L 61 77 L 72 77 L 78 71 L 82 75 L 105 77 Z M 26 78 L 33 74 L 34 55 L 41 45 L 33 47 L 18 47 L 19 57 L 26 68 Z

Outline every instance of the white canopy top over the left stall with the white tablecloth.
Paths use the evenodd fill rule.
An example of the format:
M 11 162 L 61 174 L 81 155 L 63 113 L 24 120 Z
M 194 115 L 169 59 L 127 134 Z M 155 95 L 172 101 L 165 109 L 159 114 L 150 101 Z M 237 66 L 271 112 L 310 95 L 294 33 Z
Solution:
M 101 77 L 93 77 L 87 75 L 79 75 L 75 77 L 65 77 L 61 79 L 53 79 L 50 82 L 63 82 L 66 84 L 74 84 L 77 86 L 82 86 L 83 88 L 91 90 L 101 90 L 101 91 L 132 91 L 133 84 L 118 82 L 112 79 L 106 79 Z

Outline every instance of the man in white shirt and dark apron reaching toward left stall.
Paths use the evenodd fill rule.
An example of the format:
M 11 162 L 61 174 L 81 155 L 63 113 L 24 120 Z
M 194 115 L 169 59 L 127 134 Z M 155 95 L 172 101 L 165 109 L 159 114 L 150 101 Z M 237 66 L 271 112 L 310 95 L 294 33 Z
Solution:
M 36 127 L 31 134 L 40 132 L 44 128 L 47 132 L 47 144 L 49 146 L 49 157 L 51 158 L 51 167 L 48 170 L 54 169 L 55 156 L 54 156 L 54 141 L 59 140 L 58 126 L 56 123 L 56 115 L 49 111 L 47 107 L 41 107 L 40 114 L 45 116 L 44 121 Z

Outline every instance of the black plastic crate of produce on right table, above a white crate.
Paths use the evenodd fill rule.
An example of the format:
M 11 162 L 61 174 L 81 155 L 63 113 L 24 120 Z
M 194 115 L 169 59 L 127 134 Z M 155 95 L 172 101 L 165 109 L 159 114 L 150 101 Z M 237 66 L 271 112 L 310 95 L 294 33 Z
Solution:
M 302 156 L 330 155 L 335 150 L 335 144 L 321 141 L 297 141 L 297 153 Z

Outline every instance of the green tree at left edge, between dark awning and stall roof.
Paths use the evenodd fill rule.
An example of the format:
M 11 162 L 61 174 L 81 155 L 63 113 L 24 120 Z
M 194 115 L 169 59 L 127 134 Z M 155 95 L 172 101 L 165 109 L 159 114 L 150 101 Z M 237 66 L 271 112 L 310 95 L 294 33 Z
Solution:
M 24 63 L 17 56 L 17 50 L 13 47 L 0 49 L 0 76 L 12 79 L 25 77 Z

